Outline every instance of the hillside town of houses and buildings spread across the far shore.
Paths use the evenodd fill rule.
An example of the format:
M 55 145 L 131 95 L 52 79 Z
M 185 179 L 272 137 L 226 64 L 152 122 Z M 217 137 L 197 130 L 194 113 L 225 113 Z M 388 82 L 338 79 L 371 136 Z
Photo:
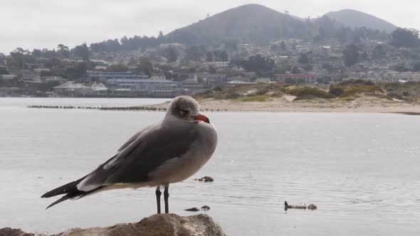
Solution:
M 54 73 L 48 68 L 44 68 L 42 63 L 26 65 L 25 69 L 18 69 L 7 68 L 6 60 L 3 62 L 0 60 L 0 67 L 6 67 L 10 72 L 8 75 L 0 75 L 0 82 L 2 82 L 0 96 L 19 93 L 25 95 L 25 91 L 33 93 L 44 85 L 53 86 L 48 87 L 53 90 L 51 94 L 47 92 L 48 96 L 174 97 L 192 95 L 216 86 L 253 83 L 316 84 L 320 81 L 330 82 L 343 79 L 391 82 L 420 81 L 420 72 L 407 72 L 406 70 L 398 72 L 395 69 L 401 64 L 412 65 L 415 63 L 411 55 L 416 52 L 410 51 L 411 49 L 393 48 L 386 43 L 377 41 L 363 41 L 360 53 L 364 55 L 360 56 L 364 58 L 355 65 L 346 67 L 343 63 L 345 45 L 345 43 L 337 41 L 313 43 L 298 39 L 272 42 L 268 46 L 238 44 L 235 51 L 229 52 L 227 61 L 207 61 L 205 57 L 191 61 L 181 56 L 185 54 L 186 46 L 178 43 L 162 44 L 159 48 L 147 48 L 147 50 L 94 55 L 95 60 L 91 59 L 91 62 L 95 63 L 95 69 L 87 70 L 86 75 L 77 81 L 68 81 L 65 76 L 48 76 Z M 378 45 L 384 45 L 384 48 L 387 48 L 386 56 L 372 58 L 372 51 Z M 162 54 L 159 54 L 159 50 L 169 46 L 181 52 L 176 61 L 169 62 L 161 56 Z M 231 63 L 237 60 L 247 60 L 251 55 L 270 58 L 274 65 L 271 73 L 267 75 L 261 73 L 260 75 L 265 75 L 265 77 L 258 77 L 258 73 L 246 71 L 236 63 Z M 106 58 L 112 58 L 112 60 Z M 149 58 L 154 65 L 152 75 L 132 73 L 131 70 L 136 71 L 136 65 L 130 67 L 130 60 L 135 61 L 133 58 Z M 112 72 L 107 70 L 107 67 L 115 61 L 127 65 L 129 71 Z M 74 58 L 62 58 L 62 62 L 61 70 L 65 71 L 68 65 L 75 65 L 80 61 Z M 164 67 L 171 68 L 169 78 L 162 72 Z M 12 82 L 16 80 L 19 80 L 20 83 Z

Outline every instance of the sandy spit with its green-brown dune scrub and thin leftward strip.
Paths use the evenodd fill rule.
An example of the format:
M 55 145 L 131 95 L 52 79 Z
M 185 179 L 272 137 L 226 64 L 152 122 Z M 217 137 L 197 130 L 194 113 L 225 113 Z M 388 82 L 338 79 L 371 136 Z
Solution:
M 198 93 L 203 112 L 362 112 L 420 114 L 420 82 L 345 80 L 335 85 L 277 83 L 215 87 Z M 33 105 L 30 108 L 164 112 L 169 102 L 134 107 Z

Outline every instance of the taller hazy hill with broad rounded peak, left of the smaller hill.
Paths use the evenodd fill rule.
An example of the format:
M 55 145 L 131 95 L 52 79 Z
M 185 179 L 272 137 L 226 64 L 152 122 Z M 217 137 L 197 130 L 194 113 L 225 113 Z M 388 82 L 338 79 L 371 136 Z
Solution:
M 305 23 L 300 19 L 258 4 L 238 6 L 165 36 L 169 42 L 221 44 L 226 41 L 266 44 L 283 36 L 302 37 Z

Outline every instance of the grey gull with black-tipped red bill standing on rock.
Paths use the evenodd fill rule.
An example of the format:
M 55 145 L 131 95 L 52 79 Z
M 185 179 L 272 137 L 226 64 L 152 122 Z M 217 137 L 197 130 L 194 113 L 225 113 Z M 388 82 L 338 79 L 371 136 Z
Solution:
M 162 122 L 132 136 L 110 159 L 77 181 L 45 193 L 63 195 L 48 205 L 79 199 L 116 188 L 156 187 L 157 213 L 164 186 L 165 213 L 169 213 L 169 184 L 184 181 L 204 166 L 217 144 L 216 128 L 200 113 L 192 97 L 179 96 L 169 104 Z

